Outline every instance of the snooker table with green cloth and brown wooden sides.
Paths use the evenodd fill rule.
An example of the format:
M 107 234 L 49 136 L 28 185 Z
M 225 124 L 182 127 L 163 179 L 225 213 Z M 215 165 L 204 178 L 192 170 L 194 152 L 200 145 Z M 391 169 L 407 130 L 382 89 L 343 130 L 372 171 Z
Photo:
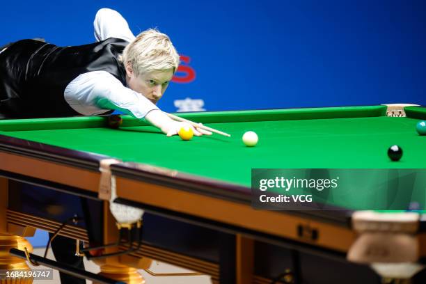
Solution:
M 107 127 L 102 116 L 0 120 L 0 268 L 25 269 L 24 260 L 8 250 L 30 248 L 24 237 L 36 228 L 54 232 L 72 216 L 83 221 L 68 223 L 59 235 L 90 246 L 115 242 L 120 231 L 109 210 L 113 202 L 145 214 L 136 251 L 96 260 L 109 278 L 142 283 L 132 267 L 148 269 L 151 260 L 159 260 L 210 275 L 213 283 L 390 283 L 387 274 L 381 279 L 368 263 L 347 260 L 361 235 L 354 228 L 354 208 L 255 210 L 251 168 L 425 168 L 426 137 L 415 128 L 426 119 L 426 108 L 381 105 L 179 116 L 232 136 L 182 141 L 127 116 L 119 129 Z M 260 137 L 253 148 L 241 141 L 248 130 Z M 386 155 L 393 144 L 404 148 L 399 162 Z M 111 158 L 116 160 L 101 171 L 101 161 Z M 105 177 L 115 190 L 112 199 L 112 185 L 100 187 Z M 376 213 L 381 214 L 386 212 Z M 425 221 L 421 212 L 395 213 L 407 214 L 414 221 L 404 234 L 416 251 L 409 265 L 417 272 L 426 256 Z M 386 258 L 380 261 L 381 255 L 372 254 L 388 265 Z M 420 271 L 411 281 L 425 279 Z

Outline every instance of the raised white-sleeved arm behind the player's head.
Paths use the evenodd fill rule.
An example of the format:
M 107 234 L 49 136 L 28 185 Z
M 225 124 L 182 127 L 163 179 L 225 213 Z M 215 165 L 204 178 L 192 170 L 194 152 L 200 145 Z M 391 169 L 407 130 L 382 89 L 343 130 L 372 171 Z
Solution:
M 107 38 L 120 38 L 132 42 L 135 38 L 125 18 L 116 10 L 109 8 L 102 8 L 97 11 L 93 27 L 98 42 Z

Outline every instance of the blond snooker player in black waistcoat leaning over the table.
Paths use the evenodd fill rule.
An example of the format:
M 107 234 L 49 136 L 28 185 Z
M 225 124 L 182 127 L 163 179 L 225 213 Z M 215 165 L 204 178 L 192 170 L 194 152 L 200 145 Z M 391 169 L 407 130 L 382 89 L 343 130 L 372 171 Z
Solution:
M 135 38 L 116 11 L 101 9 L 95 17 L 97 42 L 56 47 L 37 40 L 19 40 L 0 48 L 0 118 L 93 116 L 123 111 L 145 119 L 168 136 L 184 123 L 156 107 L 179 56 L 171 40 L 148 30 Z M 186 125 L 189 126 L 189 125 Z M 194 129 L 194 134 L 210 134 Z M 52 242 L 56 260 L 83 268 L 71 239 Z M 61 274 L 61 283 L 86 281 Z

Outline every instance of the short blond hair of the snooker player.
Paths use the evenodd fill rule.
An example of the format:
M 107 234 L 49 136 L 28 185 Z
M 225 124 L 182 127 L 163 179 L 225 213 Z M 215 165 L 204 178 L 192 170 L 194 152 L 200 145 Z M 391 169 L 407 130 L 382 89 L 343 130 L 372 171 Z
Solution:
M 179 54 L 170 38 L 157 29 L 139 33 L 125 47 L 120 60 L 125 66 L 130 64 L 136 75 L 171 68 L 176 72 L 179 66 Z

